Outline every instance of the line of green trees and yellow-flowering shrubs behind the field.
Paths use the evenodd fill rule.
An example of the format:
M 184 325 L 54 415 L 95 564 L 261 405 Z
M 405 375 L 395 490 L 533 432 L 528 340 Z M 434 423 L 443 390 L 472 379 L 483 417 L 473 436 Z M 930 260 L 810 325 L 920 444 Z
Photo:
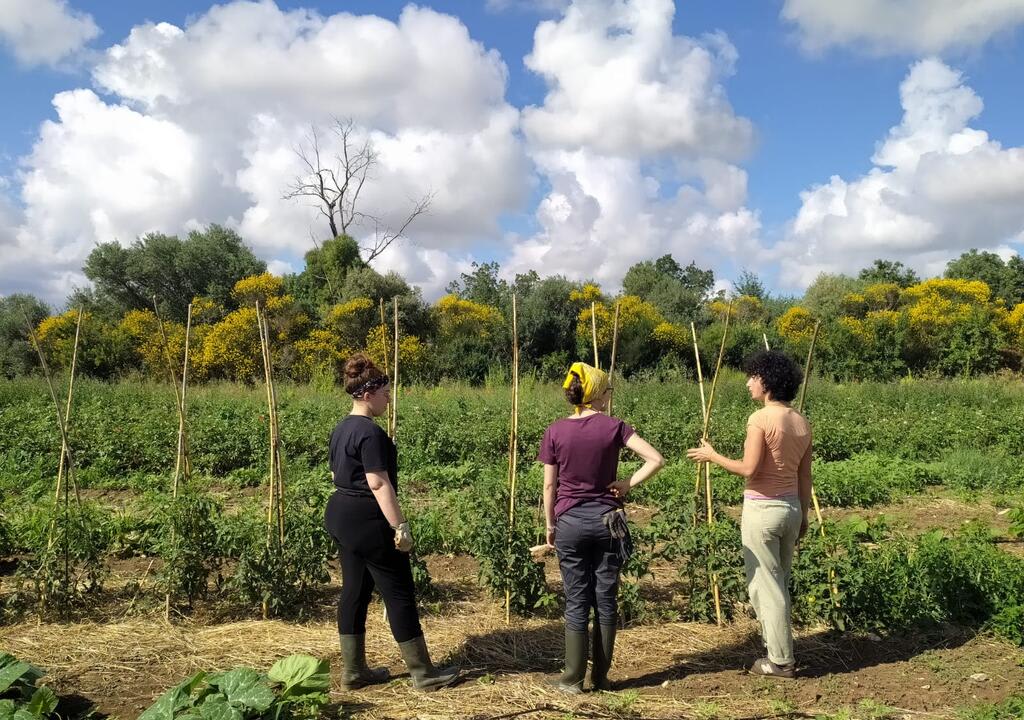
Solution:
M 715 274 L 671 255 L 638 262 L 612 294 L 592 281 L 511 282 L 498 263 L 474 264 L 433 303 L 400 276 L 381 274 L 347 236 L 305 255 L 301 272 L 276 277 L 232 230 L 211 225 L 185 238 L 147 235 L 129 247 L 98 245 L 65 307 L 31 295 L 0 298 L 0 375 L 37 372 L 27 323 L 47 361 L 70 362 L 78 310 L 84 312 L 79 369 L 97 378 L 167 377 L 181 358 L 191 306 L 190 375 L 196 381 L 255 382 L 262 377 L 258 302 L 268 315 L 280 377 L 334 383 L 356 349 L 393 353 L 397 300 L 399 362 L 406 381 L 482 383 L 502 378 L 511 359 L 512 297 L 517 298 L 520 366 L 558 379 L 575 358 L 593 357 L 592 327 L 604 363 L 618 308 L 616 368 L 628 377 L 669 379 L 693 371 L 690 324 L 703 358 L 725 331 L 725 363 L 738 367 L 763 347 L 806 351 L 819 325 L 817 370 L 839 380 L 972 376 L 1017 372 L 1024 358 L 1024 260 L 971 250 L 941 278 L 921 279 L 900 262 L 876 260 L 856 276 L 822 274 L 802 297 L 768 293 L 743 271 L 730 293 Z M 158 328 L 158 315 L 167 336 Z M 594 315 L 593 320 L 591 315 Z

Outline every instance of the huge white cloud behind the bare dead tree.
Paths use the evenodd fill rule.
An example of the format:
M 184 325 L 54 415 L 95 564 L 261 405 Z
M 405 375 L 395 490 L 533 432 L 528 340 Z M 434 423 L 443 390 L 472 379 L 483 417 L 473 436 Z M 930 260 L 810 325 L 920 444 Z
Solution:
M 400 224 L 432 197 L 391 262 L 466 255 L 529 190 L 507 75 L 457 17 L 414 5 L 391 22 L 239 1 L 183 28 L 137 26 L 93 69 L 106 96 L 59 93 L 22 159 L 20 252 L 56 277 L 44 257 L 75 273 L 97 242 L 221 222 L 274 267 L 294 264 L 327 234 L 314 208 L 282 197 L 302 171 L 295 150 L 337 118 L 378 152 L 361 211 Z

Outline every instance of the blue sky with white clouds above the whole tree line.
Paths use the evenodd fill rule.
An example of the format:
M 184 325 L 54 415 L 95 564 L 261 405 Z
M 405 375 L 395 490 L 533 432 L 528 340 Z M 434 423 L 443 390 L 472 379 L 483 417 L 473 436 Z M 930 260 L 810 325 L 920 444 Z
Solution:
M 19 6 L 27 0 L 10 2 Z M 311 219 L 298 227 L 300 214 L 272 205 L 278 198 L 265 173 L 281 166 L 270 163 L 273 154 L 269 150 L 259 156 L 253 147 L 266 149 L 288 138 L 294 145 L 292 126 L 300 120 L 326 122 L 329 114 L 315 118 L 311 117 L 315 111 L 293 116 L 288 110 L 268 110 L 281 103 L 294 107 L 296 96 L 283 93 L 280 84 L 271 83 L 263 90 L 259 77 L 226 78 L 223 90 L 209 81 L 204 91 L 210 94 L 205 99 L 154 100 L 146 76 L 139 75 L 140 69 L 152 72 L 139 58 L 152 56 L 154 48 L 164 66 L 161 72 L 173 75 L 172 85 L 205 85 L 222 69 L 199 63 L 185 68 L 190 62 L 187 55 L 174 54 L 169 45 L 157 42 L 159 34 L 132 42 L 128 38 L 133 29 L 164 23 L 181 30 L 174 42 L 187 40 L 193 48 L 202 48 L 204 42 L 231 48 L 236 47 L 229 37 L 236 32 L 232 28 L 244 26 L 252 16 L 253 35 L 248 41 L 252 45 L 262 42 L 268 29 L 284 27 L 287 18 L 298 17 L 296 13 L 302 10 L 316 19 L 288 31 L 294 32 L 288 42 L 315 36 L 326 42 L 328 58 L 335 52 L 331 42 L 337 42 L 337 52 L 346 57 L 362 49 L 346 46 L 349 36 L 332 30 L 330 20 L 339 12 L 377 15 L 387 26 L 366 32 L 397 28 L 413 47 L 421 42 L 415 33 L 429 33 L 425 27 L 441 23 L 437 13 L 452 15 L 455 27 L 463 27 L 468 35 L 467 47 L 475 43 L 479 50 L 475 55 L 471 48 L 466 50 L 466 62 L 472 67 L 467 70 L 465 91 L 459 91 L 462 94 L 441 92 L 443 78 L 436 73 L 419 76 L 414 68 L 407 88 L 389 76 L 389 82 L 396 85 L 390 98 L 368 99 L 354 90 L 356 94 L 349 97 L 344 95 L 346 89 L 339 91 L 342 99 L 331 109 L 364 101 L 372 105 L 356 121 L 367 132 L 379 133 L 374 135 L 375 144 L 385 149 L 381 183 L 386 187 L 382 187 L 381 203 L 402 193 L 408 197 L 415 192 L 416 181 L 423 179 L 416 174 L 418 170 L 402 165 L 416 164 L 410 160 L 415 158 L 411 149 L 422 150 L 423 132 L 434 133 L 431 141 L 440 143 L 437 157 L 451 161 L 452 168 L 441 173 L 447 180 L 441 193 L 444 197 L 435 199 L 429 226 L 419 237 L 414 226 L 411 242 L 380 258 L 382 269 L 402 271 L 428 295 L 436 295 L 451 276 L 471 261 L 486 259 L 501 261 L 509 272 L 536 266 L 542 272 L 594 277 L 613 287 L 631 262 L 670 251 L 684 262 L 696 259 L 714 266 L 722 278 L 750 267 L 771 287 L 799 292 L 818 271 L 856 271 L 872 257 L 885 254 L 926 273 L 941 268 L 945 259 L 968 247 L 1006 255 L 1019 251 L 1024 237 L 1024 217 L 1012 210 L 1015 204 L 1024 206 L 1024 159 L 1019 152 L 1024 145 L 1024 93 L 1019 80 L 1024 35 L 1017 29 L 1024 23 L 1024 8 L 1019 0 L 1005 0 L 1001 5 L 988 3 L 985 9 L 954 16 L 943 7 L 949 3 L 956 4 L 953 0 L 869 0 L 865 6 L 877 7 L 867 7 L 861 17 L 850 17 L 839 11 L 829 14 L 827 3 L 810 0 L 679 0 L 674 13 L 667 0 L 577 0 L 571 5 L 557 0 L 436 0 L 419 5 L 436 12 L 417 15 L 422 22 L 414 24 L 408 10 L 403 14 L 407 3 L 391 0 L 282 0 L 269 5 L 272 12 L 242 7 L 232 15 L 231 27 L 217 26 L 216 32 L 202 34 L 200 29 L 217 25 L 211 23 L 217 15 L 211 13 L 210 3 L 47 0 L 41 4 L 65 16 L 54 16 L 54 23 L 78 23 L 86 37 L 77 47 L 39 49 L 27 60 L 33 48 L 24 36 L 25 26 L 9 23 L 4 28 L 0 20 L 0 85 L 5 96 L 5 111 L 0 114 L 0 193 L 5 194 L 0 196 L 0 252 L 10 260 L 0 262 L 0 294 L 34 291 L 56 300 L 69 285 L 84 282 L 76 265 L 95 242 L 113 239 L 104 232 L 130 242 L 132 234 L 180 232 L 210 221 L 239 227 L 279 271 L 299 269 L 308 236 L 318 230 Z M 950 19 L 944 20 L 943 15 Z M 25 16 L 32 13 L 26 11 Z M 83 25 L 86 20 L 94 28 L 91 32 Z M 641 42 L 641 34 L 647 32 L 643 28 L 660 20 L 671 23 L 672 46 L 648 51 Z M 549 40 L 535 35 L 542 22 L 557 30 Z M 591 32 L 592 26 L 605 22 L 607 27 Z M 260 23 L 265 26 L 257 27 Z M 245 42 L 246 31 L 238 32 L 239 42 Z M 616 45 L 618 34 L 635 36 L 636 42 Z M 217 39 L 210 40 L 213 36 Z M 656 44 L 663 37 L 654 32 L 646 42 Z M 577 42 L 582 43 L 579 58 L 562 57 L 559 43 L 577 47 Z M 117 56 L 110 50 L 114 45 L 138 52 Z M 608 60 L 608 53 L 614 55 L 616 47 L 622 48 L 623 59 L 633 53 L 636 67 L 646 70 L 636 75 L 631 71 L 609 82 L 611 107 L 605 108 L 586 88 L 594 87 L 595 78 L 600 86 L 600 73 L 608 69 L 594 63 Z M 711 70 L 698 61 L 706 51 L 712 57 Z M 375 58 L 373 52 L 383 54 Z M 537 62 L 532 69 L 527 67 L 525 58 L 531 52 L 551 58 L 541 61 L 547 62 L 545 69 L 539 70 Z M 282 57 L 288 61 L 286 54 Z M 231 62 L 223 55 L 219 59 Z M 358 60 L 373 72 L 391 58 L 385 46 Z M 498 81 L 498 97 L 496 62 L 504 63 L 507 72 L 507 84 L 501 87 Z M 432 68 L 436 66 L 426 62 L 421 70 L 427 73 Z M 590 71 L 597 75 L 588 76 Z M 338 72 L 344 76 L 348 71 L 342 66 Z M 690 79 L 679 81 L 679 76 Z M 339 80 L 340 86 L 348 88 L 346 82 Z M 631 107 L 636 98 L 649 97 L 636 94 L 639 91 L 629 86 L 631 82 L 654 88 L 655 100 L 649 110 Z M 440 94 L 431 90 L 433 83 Z M 245 100 L 236 107 L 240 114 L 250 115 L 231 125 L 217 115 L 231 112 L 217 108 L 217 99 L 243 92 L 243 84 Z M 569 92 L 559 101 L 550 99 L 550 92 L 572 85 L 583 90 L 575 95 Z M 693 85 L 699 87 L 693 89 Z M 907 89 L 910 101 L 918 103 L 912 108 L 920 113 L 901 107 L 901 88 Z M 54 97 L 76 90 L 91 90 L 92 96 L 66 95 L 65 110 L 58 113 Z M 261 92 L 265 101 L 260 99 Z M 421 121 L 415 108 L 404 113 L 388 108 L 392 100 L 400 107 L 413 94 L 420 107 L 436 98 L 452 105 L 453 112 L 445 115 L 431 107 L 426 115 L 436 117 Z M 628 138 L 603 139 L 622 130 L 615 127 L 618 100 L 624 114 L 635 111 L 634 117 L 622 122 L 638 135 L 649 134 L 650 139 L 638 140 L 635 146 Z M 481 101 L 484 105 L 478 107 Z M 300 98 L 300 104 L 304 102 Z M 475 109 L 466 114 L 466 120 L 458 113 L 462 102 Z M 980 114 L 971 110 L 976 109 L 972 103 L 980 108 L 982 102 Z M 316 108 L 315 98 L 308 107 Z M 530 117 L 530 108 L 542 112 Z M 509 113 L 516 117 L 503 124 L 502 131 L 494 130 L 495 119 Z M 397 120 L 396 115 L 402 118 Z M 89 120 L 93 116 L 95 123 Z M 658 139 L 671 135 L 680 123 L 685 125 L 691 116 L 703 122 L 706 129 L 675 140 Z M 665 124 L 651 120 L 655 117 Z M 223 120 L 224 135 L 204 134 L 211 118 L 214 125 Z M 254 130 L 253 118 L 269 118 L 269 125 Z M 50 121 L 53 132 L 49 135 L 41 134 L 44 121 Z M 733 121 L 743 127 L 715 132 L 715 123 Z M 104 123 L 121 122 L 126 123 L 124 128 L 111 127 L 112 137 L 104 136 Z M 892 136 L 891 128 L 897 128 Z M 979 137 L 977 131 L 987 135 Z M 224 138 L 238 138 L 240 133 L 251 136 L 238 140 L 234 155 L 225 153 L 217 160 Z M 887 137 L 890 144 L 885 150 Z M 187 167 L 176 162 L 181 153 L 169 152 L 162 159 L 160 153 L 147 152 L 152 146 L 147 143 L 167 145 L 179 140 L 182 152 L 196 153 Z M 495 143 L 495 167 L 487 165 L 486 158 L 453 157 L 459 155 L 453 147 L 465 147 L 474 140 Z M 719 140 L 723 146 L 715 146 Z M 101 152 L 106 141 L 111 149 Z M 210 147 L 216 150 L 211 153 Z M 880 165 L 882 156 L 876 157 L 880 149 L 882 156 L 898 162 Z M 63 159 L 69 157 L 78 159 L 75 167 L 65 167 Z M 195 168 L 197 162 L 207 160 L 220 163 L 217 177 L 204 176 Z M 432 162 L 436 167 L 438 160 Z M 127 168 L 128 174 L 140 172 L 143 185 L 152 182 L 154 186 L 142 194 L 146 197 L 133 198 L 130 207 L 124 207 L 118 197 L 106 197 L 90 186 L 95 182 L 90 168 L 104 163 Z M 712 172 L 709 167 L 717 168 L 714 174 L 708 174 Z M 725 200 L 709 184 L 724 176 L 732 178 L 720 188 L 728 196 Z M 840 184 L 822 187 L 834 176 L 841 178 Z M 934 178 L 946 176 L 955 178 L 957 186 L 964 185 L 955 198 L 934 186 Z M 168 177 L 173 180 L 170 187 L 162 184 Z M 992 185 L 992 177 L 1000 179 L 998 186 Z M 436 175 L 430 181 L 436 181 Z M 200 189 L 189 190 L 188 182 Z M 236 182 L 237 187 L 224 186 Z M 81 197 L 74 193 L 76 183 L 82 183 L 89 197 L 73 203 L 76 207 L 66 217 L 70 229 L 54 229 L 50 215 L 63 207 L 59 198 Z M 885 187 L 880 189 L 879 183 Z M 141 185 L 129 182 L 127 190 L 135 186 Z M 207 193 L 203 187 L 216 189 Z M 432 184 L 430 188 L 437 192 Z M 459 196 L 474 193 L 479 197 L 472 202 L 459 202 Z M 802 193 L 811 197 L 802 198 Z M 897 196 L 899 202 L 893 202 Z M 613 207 L 620 204 L 617 198 L 626 199 L 623 207 Z M 955 208 L 972 208 L 970 212 L 979 214 L 977 221 L 962 217 L 963 212 L 950 216 Z M 374 209 L 384 216 L 392 212 L 383 206 Z M 76 218 L 80 227 L 75 226 Z M 637 225 L 646 226 L 635 238 L 634 218 L 642 218 Z M 895 235 L 890 237 L 890 232 Z M 307 237 L 298 239 L 298 235 Z M 279 240 L 285 236 L 287 242 Z M 867 240 L 858 245 L 858 237 Z M 39 252 L 41 246 L 45 252 Z M 6 271 L 2 265 L 8 266 Z

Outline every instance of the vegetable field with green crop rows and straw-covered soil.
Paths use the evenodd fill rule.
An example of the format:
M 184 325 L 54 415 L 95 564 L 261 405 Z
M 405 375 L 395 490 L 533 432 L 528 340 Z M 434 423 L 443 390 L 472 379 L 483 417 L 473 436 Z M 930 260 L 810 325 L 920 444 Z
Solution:
M 719 392 L 710 437 L 737 456 L 754 407 L 738 375 L 726 374 Z M 74 490 L 66 483 L 55 502 L 63 470 L 49 391 L 41 380 L 4 381 L 0 650 L 10 654 L 0 655 L 0 720 L 1021 717 L 1016 379 L 813 381 L 824 523 L 794 573 L 803 677 L 788 684 L 737 673 L 760 649 L 739 552 L 742 481 L 713 471 L 718 521 L 693 523 L 694 503 L 705 503 L 685 460 L 702 429 L 696 385 L 617 383 L 615 415 L 669 464 L 630 498 L 637 552 L 621 588 L 615 691 L 580 700 L 543 685 L 560 666 L 560 587 L 556 563 L 528 553 L 543 526 L 535 457 L 546 425 L 565 413 L 560 389 L 520 381 L 511 537 L 507 382 L 402 387 L 400 397 L 400 498 L 424 626 L 467 682 L 427 698 L 406 680 L 343 693 L 328 677 L 338 672 L 339 581 L 322 519 L 327 438 L 348 410 L 340 391 L 278 388 L 284 540 L 269 543 L 272 423 L 262 387 L 189 389 L 190 475 L 175 496 L 171 386 L 76 381 Z M 622 472 L 630 468 L 626 458 Z M 379 604 L 368 647 L 372 663 L 400 676 Z

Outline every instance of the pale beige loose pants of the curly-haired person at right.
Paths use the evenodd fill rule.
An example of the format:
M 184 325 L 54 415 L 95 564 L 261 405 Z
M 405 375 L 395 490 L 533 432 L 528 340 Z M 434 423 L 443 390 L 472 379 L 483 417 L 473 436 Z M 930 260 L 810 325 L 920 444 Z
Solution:
M 797 498 L 743 500 L 740 530 L 746 589 L 761 623 L 768 660 L 775 665 L 795 662 L 790 575 L 802 518 Z

